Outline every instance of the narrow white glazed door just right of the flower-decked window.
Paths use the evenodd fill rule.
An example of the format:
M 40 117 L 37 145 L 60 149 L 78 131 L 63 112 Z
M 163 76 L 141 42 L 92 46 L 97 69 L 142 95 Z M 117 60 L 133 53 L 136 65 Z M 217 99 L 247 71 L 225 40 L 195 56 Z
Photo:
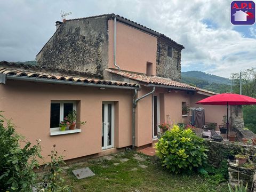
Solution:
M 114 103 L 102 103 L 102 149 L 114 147 Z

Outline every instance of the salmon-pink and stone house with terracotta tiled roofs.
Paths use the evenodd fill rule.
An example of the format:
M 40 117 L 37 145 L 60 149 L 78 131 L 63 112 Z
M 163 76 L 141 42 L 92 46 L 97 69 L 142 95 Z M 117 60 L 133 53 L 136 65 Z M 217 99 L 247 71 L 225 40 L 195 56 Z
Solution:
M 189 123 L 182 107 L 215 93 L 180 83 L 181 51 L 171 38 L 115 14 L 56 22 L 38 66 L 0 63 L 0 109 L 29 141 L 67 150 L 65 159 L 149 146 L 157 125 Z M 203 106 L 221 124 L 224 106 Z M 59 122 L 76 110 L 75 130 Z

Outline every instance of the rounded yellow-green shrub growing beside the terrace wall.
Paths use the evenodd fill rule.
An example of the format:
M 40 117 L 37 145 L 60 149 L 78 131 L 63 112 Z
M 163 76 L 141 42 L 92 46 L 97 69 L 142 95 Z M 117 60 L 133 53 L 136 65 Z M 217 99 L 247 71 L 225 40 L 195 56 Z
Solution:
M 162 166 L 174 173 L 191 171 L 207 162 L 203 138 L 190 129 L 181 130 L 178 125 L 166 131 L 155 148 Z

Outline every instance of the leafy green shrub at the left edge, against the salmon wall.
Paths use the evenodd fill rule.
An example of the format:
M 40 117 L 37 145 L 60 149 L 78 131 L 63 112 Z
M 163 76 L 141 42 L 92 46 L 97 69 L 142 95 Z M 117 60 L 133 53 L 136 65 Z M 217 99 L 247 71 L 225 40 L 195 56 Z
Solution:
M 35 146 L 26 142 L 21 148 L 21 141 L 13 124 L 0 114 L 0 191 L 30 191 L 36 181 L 33 168 L 38 166 L 39 142 Z

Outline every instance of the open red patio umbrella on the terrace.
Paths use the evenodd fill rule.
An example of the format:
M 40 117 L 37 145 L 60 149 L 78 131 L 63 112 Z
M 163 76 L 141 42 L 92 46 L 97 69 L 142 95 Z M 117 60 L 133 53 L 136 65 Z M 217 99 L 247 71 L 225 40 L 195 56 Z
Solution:
M 227 128 L 228 128 L 228 106 L 229 105 L 256 105 L 256 99 L 246 95 L 235 93 L 221 93 L 213 95 L 196 102 L 202 105 L 226 105 L 227 106 Z M 227 130 L 228 131 L 228 130 Z M 228 135 L 228 132 L 227 132 Z

